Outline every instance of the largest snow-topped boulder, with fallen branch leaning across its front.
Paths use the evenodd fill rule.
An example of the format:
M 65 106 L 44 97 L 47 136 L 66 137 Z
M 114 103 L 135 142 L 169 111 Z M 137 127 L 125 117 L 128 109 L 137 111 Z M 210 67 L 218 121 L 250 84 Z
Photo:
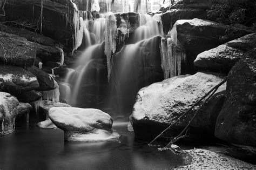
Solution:
M 130 117 L 137 138 L 153 139 L 201 97 L 223 80 L 222 74 L 198 72 L 193 76 L 177 76 L 144 87 L 137 94 L 136 104 Z M 211 137 L 215 121 L 224 103 L 225 85 L 201 108 L 191 123 L 190 135 Z M 180 133 L 198 110 L 198 106 L 188 113 L 169 134 Z

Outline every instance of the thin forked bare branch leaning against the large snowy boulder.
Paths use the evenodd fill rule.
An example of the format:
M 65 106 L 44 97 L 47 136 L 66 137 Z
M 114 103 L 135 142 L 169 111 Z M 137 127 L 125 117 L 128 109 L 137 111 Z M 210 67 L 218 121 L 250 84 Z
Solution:
M 209 92 L 207 92 L 207 93 L 205 94 L 205 96 L 201 97 L 201 98 L 197 101 L 197 103 L 195 103 L 193 106 L 191 106 L 191 107 L 190 107 L 185 113 L 183 113 L 176 121 L 174 121 L 173 124 L 171 124 L 171 125 L 170 125 L 169 127 L 167 127 L 163 132 L 161 132 L 156 138 L 154 138 L 154 139 L 149 143 L 149 145 L 152 145 L 152 143 L 153 143 L 154 141 L 156 141 L 158 138 L 160 138 L 166 131 L 170 130 L 170 128 L 171 128 L 172 126 L 174 126 L 175 124 L 177 124 L 178 121 L 180 121 L 180 119 L 184 117 L 184 115 L 186 115 L 188 112 L 190 112 L 190 111 L 192 110 L 192 108 L 194 108 L 196 105 L 200 104 L 200 102 L 201 102 L 202 100 L 204 100 L 209 94 L 211 94 L 211 93 L 213 92 L 213 93 L 211 94 L 211 96 L 206 99 L 206 101 L 207 101 L 208 99 L 210 99 L 210 98 L 212 97 L 212 95 L 219 89 L 219 87 L 220 87 L 221 85 L 223 85 L 226 81 L 227 81 L 227 77 L 224 78 L 224 80 L 221 81 L 218 85 L 214 86 Z M 205 103 L 206 103 L 206 101 L 205 101 Z M 197 111 L 197 112 L 198 112 L 198 111 Z M 197 113 L 194 115 L 194 117 L 196 117 L 196 115 L 197 115 Z M 194 117 L 192 118 L 192 120 L 194 119 Z M 191 123 L 191 121 L 190 121 L 190 123 Z M 189 123 L 188 125 L 190 125 L 190 123 Z M 186 126 L 186 128 L 188 127 L 188 125 Z M 179 136 L 180 136 L 181 134 L 184 133 L 185 130 L 186 130 L 186 129 L 184 129 L 184 130 L 178 135 L 178 138 L 179 138 Z M 176 140 L 176 141 L 177 141 L 177 140 Z M 168 144 L 168 145 L 169 145 L 169 144 Z M 167 145 L 167 146 L 168 146 L 168 145 Z

